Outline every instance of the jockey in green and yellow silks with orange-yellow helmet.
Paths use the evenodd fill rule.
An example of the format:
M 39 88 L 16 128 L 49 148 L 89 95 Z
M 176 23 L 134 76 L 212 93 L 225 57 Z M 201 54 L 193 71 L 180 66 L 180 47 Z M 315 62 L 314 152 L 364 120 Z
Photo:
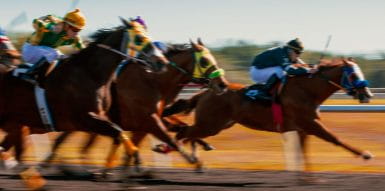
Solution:
M 84 48 L 78 33 L 85 23 L 86 19 L 79 9 L 67 13 L 63 19 L 53 15 L 34 19 L 35 32 L 22 48 L 24 60 L 33 66 L 22 77 L 34 81 L 34 76 L 45 63 L 50 64 L 48 74 L 58 59 Z

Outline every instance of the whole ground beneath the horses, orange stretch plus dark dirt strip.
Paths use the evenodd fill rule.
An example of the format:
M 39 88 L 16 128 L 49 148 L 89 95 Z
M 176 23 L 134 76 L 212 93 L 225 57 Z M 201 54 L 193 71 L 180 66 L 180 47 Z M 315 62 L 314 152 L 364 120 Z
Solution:
M 285 170 L 281 135 L 254 131 L 240 125 L 207 139 L 216 150 L 200 151 L 200 158 L 208 170 L 197 174 L 181 157 L 150 151 L 157 141 L 151 137 L 142 145 L 144 165 L 153 169 L 155 178 L 138 179 L 136 184 L 122 183 L 121 177 L 96 182 L 89 177 L 44 172 L 49 190 L 384 190 L 385 188 L 385 113 L 322 113 L 323 123 L 339 138 L 363 150 L 370 150 L 375 158 L 364 161 L 346 150 L 315 137 L 309 140 L 309 159 L 313 184 L 301 184 L 298 175 Z M 192 117 L 184 120 L 192 121 Z M 39 160 L 50 148 L 44 135 L 30 138 L 24 156 L 27 163 Z M 85 134 L 71 137 L 60 149 L 57 163 L 79 164 L 79 149 Z M 1 139 L 1 138 L 0 138 Z M 44 140 L 47 139 L 48 143 Z M 109 151 L 110 139 L 102 137 L 89 154 L 87 164 L 101 165 Z M 122 156 L 122 149 L 120 149 Z M 231 170 L 220 170 L 231 169 Z M 131 187 L 130 187 L 131 185 Z M 135 185 L 132 187 L 132 185 Z M 0 169 L 0 188 L 26 190 L 17 174 Z M 1 190 L 1 189 L 0 189 Z

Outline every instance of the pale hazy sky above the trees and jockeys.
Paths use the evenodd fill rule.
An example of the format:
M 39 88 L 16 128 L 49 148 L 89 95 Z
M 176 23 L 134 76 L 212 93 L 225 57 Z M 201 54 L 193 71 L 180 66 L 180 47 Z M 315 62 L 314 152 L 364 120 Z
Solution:
M 366 54 L 385 52 L 384 0 L 0 0 L 0 26 L 23 11 L 27 22 L 13 30 L 32 31 L 46 14 L 64 16 L 77 3 L 87 17 L 88 35 L 118 26 L 119 16 L 140 15 L 154 40 L 187 43 L 201 37 L 210 46 L 228 40 L 256 44 L 300 38 L 306 49 Z

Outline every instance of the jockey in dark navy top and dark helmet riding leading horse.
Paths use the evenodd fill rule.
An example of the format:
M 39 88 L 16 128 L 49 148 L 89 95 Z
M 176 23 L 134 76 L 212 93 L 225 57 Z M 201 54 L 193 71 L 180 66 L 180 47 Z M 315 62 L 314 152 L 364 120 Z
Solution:
M 296 38 L 284 46 L 258 54 L 250 67 L 250 76 L 260 88 L 249 90 L 246 95 L 252 99 L 271 100 L 271 88 L 284 76 L 315 73 L 317 69 L 307 67 L 307 64 L 299 58 L 303 51 L 302 42 Z

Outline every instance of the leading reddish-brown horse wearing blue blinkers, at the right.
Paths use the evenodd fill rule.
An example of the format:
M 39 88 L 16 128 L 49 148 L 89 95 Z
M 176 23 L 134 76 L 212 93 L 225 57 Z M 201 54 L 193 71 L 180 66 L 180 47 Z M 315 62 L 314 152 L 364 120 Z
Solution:
M 194 141 L 196 138 L 214 136 L 221 130 L 239 123 L 262 131 L 298 131 L 303 152 L 307 136 L 315 135 L 363 159 L 370 159 L 370 153 L 342 142 L 320 121 L 319 105 L 339 89 L 347 90 L 350 95 L 359 98 L 360 102 L 367 102 L 371 97 L 358 65 L 351 60 L 341 59 L 323 61 L 319 65 L 319 72 L 314 75 L 289 77 L 279 95 L 283 110 L 281 129 L 273 122 L 272 104 L 246 99 L 245 88 L 239 84 L 229 85 L 229 91 L 222 95 L 206 91 L 189 100 L 178 100 L 164 110 L 164 116 L 182 111 L 190 112 L 195 108 L 195 123 L 191 127 L 183 128 L 177 134 L 177 139 Z

